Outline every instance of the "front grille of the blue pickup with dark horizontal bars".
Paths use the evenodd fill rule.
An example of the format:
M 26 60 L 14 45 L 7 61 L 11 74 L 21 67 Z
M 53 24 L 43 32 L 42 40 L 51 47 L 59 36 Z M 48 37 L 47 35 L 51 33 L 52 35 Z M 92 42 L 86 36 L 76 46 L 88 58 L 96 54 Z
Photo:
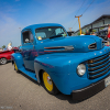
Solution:
M 109 72 L 109 54 L 90 59 L 88 64 L 89 79 L 96 79 L 106 75 Z

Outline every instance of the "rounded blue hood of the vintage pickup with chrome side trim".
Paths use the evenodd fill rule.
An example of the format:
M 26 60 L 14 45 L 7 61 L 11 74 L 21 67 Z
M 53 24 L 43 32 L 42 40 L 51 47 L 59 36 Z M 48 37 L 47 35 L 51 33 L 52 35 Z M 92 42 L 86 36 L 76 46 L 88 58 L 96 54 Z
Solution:
M 41 41 L 40 52 L 86 53 L 103 47 L 102 38 L 95 35 L 55 37 Z

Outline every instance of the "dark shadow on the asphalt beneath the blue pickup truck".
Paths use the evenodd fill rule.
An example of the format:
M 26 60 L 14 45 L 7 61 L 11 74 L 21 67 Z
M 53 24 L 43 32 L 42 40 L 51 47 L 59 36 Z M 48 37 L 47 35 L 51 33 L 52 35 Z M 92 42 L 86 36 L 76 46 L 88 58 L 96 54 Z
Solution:
M 29 76 L 25 75 L 24 73 L 19 72 L 19 74 L 23 75 L 25 78 L 28 78 L 28 79 L 31 80 L 32 82 L 34 82 L 34 84 L 36 84 L 36 85 L 43 87 L 42 84 L 40 85 L 36 80 L 32 79 L 31 77 L 29 77 Z M 43 88 L 44 88 L 44 87 L 43 87 Z M 44 90 L 45 90 L 45 89 L 44 89 Z M 59 100 L 67 100 L 69 103 L 79 103 L 79 102 L 84 101 L 84 100 L 81 100 L 81 101 L 73 100 L 72 95 L 64 95 L 64 94 L 62 94 L 62 92 L 59 92 L 59 94 L 56 95 L 55 97 L 56 97 L 57 99 L 59 99 Z

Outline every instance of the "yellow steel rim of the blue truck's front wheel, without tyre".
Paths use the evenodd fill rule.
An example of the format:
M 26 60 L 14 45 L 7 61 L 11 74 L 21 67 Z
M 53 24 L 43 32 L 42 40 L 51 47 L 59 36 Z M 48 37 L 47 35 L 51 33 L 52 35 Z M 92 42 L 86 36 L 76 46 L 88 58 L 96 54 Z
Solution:
M 53 81 L 46 72 L 43 73 L 43 81 L 46 90 L 50 92 L 53 91 Z

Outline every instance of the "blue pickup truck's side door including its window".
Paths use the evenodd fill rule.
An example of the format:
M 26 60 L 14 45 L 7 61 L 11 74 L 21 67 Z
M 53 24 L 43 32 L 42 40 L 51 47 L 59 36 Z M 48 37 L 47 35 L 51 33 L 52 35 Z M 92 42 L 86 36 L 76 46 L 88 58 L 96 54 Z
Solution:
M 22 33 L 22 56 L 24 62 L 24 67 L 26 69 L 34 72 L 34 58 L 36 50 L 34 48 L 35 42 L 31 31 L 25 31 Z

